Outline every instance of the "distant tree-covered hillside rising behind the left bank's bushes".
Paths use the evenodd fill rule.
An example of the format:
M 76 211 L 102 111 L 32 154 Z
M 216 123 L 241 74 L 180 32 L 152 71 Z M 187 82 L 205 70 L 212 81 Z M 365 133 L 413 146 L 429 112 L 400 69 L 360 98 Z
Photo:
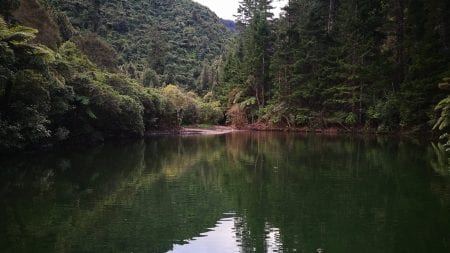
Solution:
M 190 0 L 48 2 L 76 29 L 110 43 L 130 77 L 142 79 L 153 69 L 161 84 L 195 89 L 202 65 L 217 57 L 231 36 L 213 12 Z

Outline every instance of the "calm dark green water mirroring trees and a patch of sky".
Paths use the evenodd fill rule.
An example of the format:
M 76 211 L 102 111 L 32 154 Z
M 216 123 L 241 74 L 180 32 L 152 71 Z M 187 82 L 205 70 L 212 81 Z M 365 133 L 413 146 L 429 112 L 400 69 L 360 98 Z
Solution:
M 450 252 L 429 142 L 157 137 L 0 160 L 0 252 Z

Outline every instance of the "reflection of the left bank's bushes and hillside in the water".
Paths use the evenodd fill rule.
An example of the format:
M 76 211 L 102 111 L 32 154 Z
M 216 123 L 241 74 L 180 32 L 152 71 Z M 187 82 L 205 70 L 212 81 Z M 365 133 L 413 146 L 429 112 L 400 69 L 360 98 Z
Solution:
M 187 173 L 199 152 L 214 159 L 210 141 L 193 144 L 158 138 L 2 163 L 0 251 L 165 252 L 196 236 L 225 201 Z

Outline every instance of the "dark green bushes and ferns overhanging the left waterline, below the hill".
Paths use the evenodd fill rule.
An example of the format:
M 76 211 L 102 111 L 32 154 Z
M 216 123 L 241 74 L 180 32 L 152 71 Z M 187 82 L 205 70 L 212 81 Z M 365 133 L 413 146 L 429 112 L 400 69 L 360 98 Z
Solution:
M 35 29 L 1 24 L 1 151 L 143 136 L 175 124 L 158 91 L 99 70 L 72 42 L 55 53 L 29 42 Z

